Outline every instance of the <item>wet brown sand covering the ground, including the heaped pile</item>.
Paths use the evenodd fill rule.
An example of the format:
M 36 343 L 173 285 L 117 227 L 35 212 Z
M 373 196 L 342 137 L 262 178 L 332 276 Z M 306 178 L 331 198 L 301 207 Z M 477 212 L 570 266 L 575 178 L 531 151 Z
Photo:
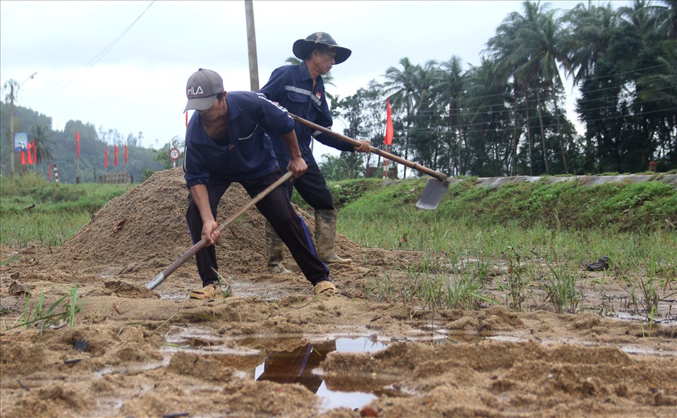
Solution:
M 377 300 L 367 283 L 404 281 L 422 254 L 343 236 L 337 252 L 353 264 L 331 265 L 338 295 L 315 297 L 290 254 L 293 274 L 267 273 L 256 209 L 217 247 L 229 297 L 188 299 L 201 287 L 192 259 L 147 290 L 190 248 L 187 196 L 181 171 L 162 171 L 59 248 L 0 249 L 14 260 L 0 269 L 1 417 L 677 416 L 675 297 L 650 327 L 618 319 L 624 282 L 581 266 L 576 314 L 554 312 L 538 289 L 521 312 Z M 219 219 L 248 200 L 233 185 Z M 73 328 L 12 328 L 27 288 L 43 310 L 65 296 L 63 312 L 75 285 L 84 305 Z M 350 340 L 369 343 L 341 349 Z M 329 407 L 327 393 L 348 401 Z

